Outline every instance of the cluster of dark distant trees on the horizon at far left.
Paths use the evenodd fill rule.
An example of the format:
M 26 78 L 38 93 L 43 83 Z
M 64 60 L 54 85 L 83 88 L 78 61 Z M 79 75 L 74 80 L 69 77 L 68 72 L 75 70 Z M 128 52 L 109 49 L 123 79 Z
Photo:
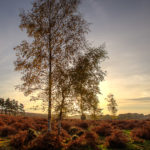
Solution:
M 6 100 L 3 98 L 0 98 L 0 113 L 1 114 L 24 114 L 24 105 L 19 103 L 16 100 L 10 100 L 7 98 Z

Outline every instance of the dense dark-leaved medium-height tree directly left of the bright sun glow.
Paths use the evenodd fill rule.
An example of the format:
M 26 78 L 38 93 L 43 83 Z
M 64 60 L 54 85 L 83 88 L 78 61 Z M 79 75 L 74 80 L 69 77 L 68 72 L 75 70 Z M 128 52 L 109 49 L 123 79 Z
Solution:
M 97 109 L 99 83 L 105 76 L 105 72 L 101 69 L 101 62 L 107 57 L 106 54 L 103 46 L 88 48 L 87 52 L 78 58 L 76 66 L 71 71 L 71 82 L 80 108 L 81 119 L 84 118 L 85 111 Z

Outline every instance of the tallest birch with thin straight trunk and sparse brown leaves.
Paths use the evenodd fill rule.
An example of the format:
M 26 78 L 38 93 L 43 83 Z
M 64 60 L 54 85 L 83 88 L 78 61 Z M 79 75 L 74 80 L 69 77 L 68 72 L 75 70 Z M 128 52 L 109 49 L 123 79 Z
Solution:
M 48 130 L 51 131 L 52 99 L 57 64 L 71 66 L 85 46 L 86 21 L 77 12 L 79 0 L 35 0 L 31 11 L 23 11 L 21 29 L 33 38 L 15 48 L 15 70 L 22 73 L 18 88 L 29 95 L 39 92 L 48 101 Z M 44 96 L 43 96 L 44 95 Z

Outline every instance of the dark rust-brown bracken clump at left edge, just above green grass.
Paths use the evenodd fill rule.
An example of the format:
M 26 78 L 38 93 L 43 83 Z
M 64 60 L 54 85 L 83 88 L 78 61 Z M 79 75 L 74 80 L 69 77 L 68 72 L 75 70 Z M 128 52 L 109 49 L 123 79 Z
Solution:
M 16 133 L 17 133 L 17 131 L 13 127 L 10 127 L 10 126 L 7 126 L 7 125 L 0 127 L 0 136 L 1 137 L 7 137 L 7 136 L 10 136 L 10 135 L 14 135 Z

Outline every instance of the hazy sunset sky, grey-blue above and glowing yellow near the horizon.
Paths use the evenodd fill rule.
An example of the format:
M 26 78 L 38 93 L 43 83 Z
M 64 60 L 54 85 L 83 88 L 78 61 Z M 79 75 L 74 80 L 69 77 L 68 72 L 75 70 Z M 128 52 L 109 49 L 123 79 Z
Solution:
M 32 103 L 15 90 L 21 75 L 14 71 L 13 48 L 27 39 L 19 29 L 19 10 L 31 8 L 32 0 L 0 1 L 0 97 L 15 98 L 27 111 Z M 150 1 L 82 0 L 79 10 L 91 23 L 87 39 L 93 46 L 105 44 L 109 59 L 100 83 L 99 97 L 104 114 L 105 97 L 112 93 L 119 113 L 150 113 Z

